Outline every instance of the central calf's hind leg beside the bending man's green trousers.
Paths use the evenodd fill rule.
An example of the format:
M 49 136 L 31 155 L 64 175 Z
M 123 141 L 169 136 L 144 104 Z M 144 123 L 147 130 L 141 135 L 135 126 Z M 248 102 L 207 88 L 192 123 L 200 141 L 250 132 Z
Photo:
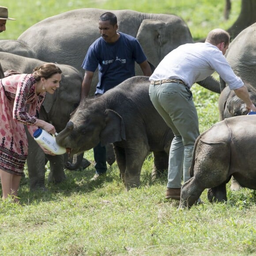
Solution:
M 160 177 L 168 169 L 169 155 L 166 151 L 153 152 L 154 169 L 151 173 L 152 181 Z

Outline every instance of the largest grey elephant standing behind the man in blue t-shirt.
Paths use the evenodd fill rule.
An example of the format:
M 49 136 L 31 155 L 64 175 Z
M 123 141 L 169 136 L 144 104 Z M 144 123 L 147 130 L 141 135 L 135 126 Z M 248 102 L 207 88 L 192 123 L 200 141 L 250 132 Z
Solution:
M 98 19 L 109 10 L 84 8 L 64 12 L 42 20 L 19 36 L 47 62 L 58 62 L 81 68 L 89 46 L 99 37 Z M 177 46 L 192 43 L 188 26 L 176 15 L 142 13 L 131 10 L 112 11 L 117 15 L 119 30 L 139 40 L 152 68 Z M 68 29 L 67 29 L 68 24 Z M 136 65 L 136 75 L 142 75 Z M 98 76 L 94 75 L 90 94 L 94 94 Z M 220 93 L 219 83 L 212 77 L 200 83 Z

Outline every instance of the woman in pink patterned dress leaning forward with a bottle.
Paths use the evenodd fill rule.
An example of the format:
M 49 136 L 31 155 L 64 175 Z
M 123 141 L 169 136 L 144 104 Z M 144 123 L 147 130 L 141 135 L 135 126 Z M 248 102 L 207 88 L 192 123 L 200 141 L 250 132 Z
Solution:
M 54 134 L 54 126 L 38 119 L 45 94 L 60 86 L 61 73 L 53 63 L 34 68 L 33 74 L 0 79 L 0 179 L 2 199 L 9 195 L 19 202 L 18 188 L 28 154 L 24 124 L 31 135 L 38 128 Z M 41 146 L 40 146 L 41 147 Z M 41 147 L 46 154 L 50 151 Z

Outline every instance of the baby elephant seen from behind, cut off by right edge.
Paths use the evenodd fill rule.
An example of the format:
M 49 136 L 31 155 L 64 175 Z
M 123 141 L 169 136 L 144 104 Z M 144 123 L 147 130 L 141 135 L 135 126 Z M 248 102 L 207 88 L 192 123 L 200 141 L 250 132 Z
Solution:
M 210 202 L 227 201 L 231 175 L 256 189 L 256 115 L 230 117 L 196 140 L 189 181 L 181 188 L 180 208 L 191 207 L 205 188 Z

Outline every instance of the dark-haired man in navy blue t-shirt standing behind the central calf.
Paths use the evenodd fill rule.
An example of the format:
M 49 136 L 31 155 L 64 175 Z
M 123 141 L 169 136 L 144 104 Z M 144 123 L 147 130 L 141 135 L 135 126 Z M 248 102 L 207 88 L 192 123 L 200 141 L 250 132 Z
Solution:
M 117 32 L 117 17 L 111 12 L 105 12 L 99 19 L 101 37 L 90 45 L 82 64 L 85 69 L 81 99 L 87 97 L 90 91 L 94 72 L 98 68 L 98 84 L 95 95 L 104 94 L 107 90 L 135 75 L 135 61 L 143 74 L 152 74 L 147 57 L 136 38 Z M 93 179 L 107 171 L 106 149 L 100 143 L 94 147 L 96 173 Z

